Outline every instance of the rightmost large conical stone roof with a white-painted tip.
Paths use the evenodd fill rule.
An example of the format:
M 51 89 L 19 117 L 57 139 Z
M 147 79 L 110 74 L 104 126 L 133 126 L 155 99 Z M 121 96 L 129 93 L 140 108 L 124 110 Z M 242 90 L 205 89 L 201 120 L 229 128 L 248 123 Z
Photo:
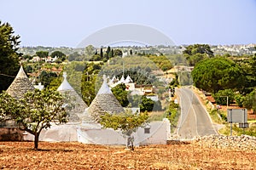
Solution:
M 107 79 L 103 78 L 102 87 L 96 94 L 96 98 L 91 102 L 88 113 L 93 117 L 94 121 L 99 122 L 101 116 L 106 112 L 119 114 L 124 112 L 124 109 L 108 87 Z

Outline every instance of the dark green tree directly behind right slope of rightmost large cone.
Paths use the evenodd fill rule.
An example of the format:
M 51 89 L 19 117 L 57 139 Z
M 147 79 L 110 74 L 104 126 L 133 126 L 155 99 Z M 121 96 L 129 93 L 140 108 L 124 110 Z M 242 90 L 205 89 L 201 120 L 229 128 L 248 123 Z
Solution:
M 121 83 L 117 85 L 116 87 L 112 88 L 112 93 L 115 96 L 116 99 L 119 100 L 119 103 L 123 106 L 126 107 L 129 105 L 129 100 L 128 100 L 128 92 L 125 90 L 126 86 L 124 83 Z

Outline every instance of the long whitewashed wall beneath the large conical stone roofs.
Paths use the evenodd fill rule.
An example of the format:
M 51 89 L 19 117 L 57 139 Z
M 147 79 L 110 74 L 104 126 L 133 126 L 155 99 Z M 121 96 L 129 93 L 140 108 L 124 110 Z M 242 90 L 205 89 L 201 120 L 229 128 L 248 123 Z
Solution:
M 164 119 L 161 122 L 150 122 L 149 133 L 139 127 L 134 136 L 134 145 L 166 144 L 168 135 L 171 133 L 170 122 Z M 33 140 L 30 133 L 24 135 L 24 140 Z M 79 125 L 53 125 L 48 130 L 43 130 L 39 137 L 40 141 L 68 142 L 79 141 L 84 144 L 126 144 L 126 138 L 120 131 L 103 129 L 97 123 L 83 123 Z

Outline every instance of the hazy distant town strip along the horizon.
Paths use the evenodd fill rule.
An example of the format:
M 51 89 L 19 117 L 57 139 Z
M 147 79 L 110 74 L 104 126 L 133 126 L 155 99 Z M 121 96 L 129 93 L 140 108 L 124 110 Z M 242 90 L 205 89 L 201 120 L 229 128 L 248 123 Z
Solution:
M 134 54 L 182 54 L 185 47 L 188 45 L 180 46 L 128 46 L 128 47 L 112 47 L 122 49 L 123 55 L 129 54 L 130 51 Z M 255 54 L 256 53 L 256 44 L 234 44 L 234 45 L 210 45 L 214 54 L 230 54 L 230 55 L 242 55 L 242 54 Z M 84 47 L 85 48 L 85 47 Z M 84 53 L 84 48 L 68 48 L 68 47 L 20 47 L 19 52 L 22 54 L 35 54 L 37 51 L 48 51 L 52 53 L 54 51 L 61 51 L 64 54 L 73 54 L 75 52 L 79 54 Z M 102 47 L 107 49 L 108 47 Z M 96 48 L 100 51 L 101 48 Z

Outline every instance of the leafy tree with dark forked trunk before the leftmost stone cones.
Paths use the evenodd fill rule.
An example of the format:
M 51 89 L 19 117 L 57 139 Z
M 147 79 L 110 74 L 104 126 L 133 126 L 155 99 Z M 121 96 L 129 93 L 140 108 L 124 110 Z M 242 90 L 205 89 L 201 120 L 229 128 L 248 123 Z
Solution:
M 62 95 L 50 89 L 27 92 L 24 99 L 16 100 L 9 94 L 0 94 L 0 113 L 10 116 L 20 128 L 35 136 L 34 147 L 38 149 L 39 134 L 51 126 L 51 122 L 67 122 L 67 112 L 62 107 Z

